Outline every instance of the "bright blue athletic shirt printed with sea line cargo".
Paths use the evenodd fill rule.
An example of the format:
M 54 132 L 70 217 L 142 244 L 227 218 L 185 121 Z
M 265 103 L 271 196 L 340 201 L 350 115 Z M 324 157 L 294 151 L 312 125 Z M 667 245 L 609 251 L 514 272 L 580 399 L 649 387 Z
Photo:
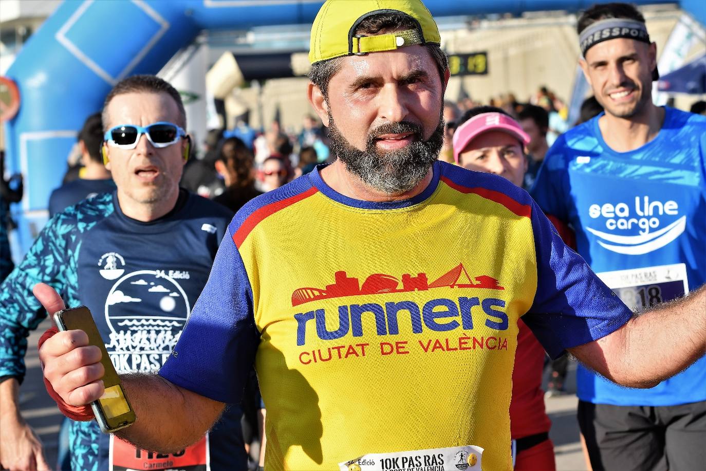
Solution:
M 681 264 L 688 290 L 706 282 L 706 118 L 665 110 L 657 137 L 626 153 L 603 140 L 603 114 L 564 133 L 532 189 L 542 210 L 573 225 L 578 253 L 595 272 L 648 268 L 623 275 L 634 288 L 614 287 L 628 306 L 681 295 Z M 680 323 L 689 328 L 688 318 Z M 651 389 L 622 388 L 580 367 L 578 397 L 613 405 L 706 400 L 706 358 Z

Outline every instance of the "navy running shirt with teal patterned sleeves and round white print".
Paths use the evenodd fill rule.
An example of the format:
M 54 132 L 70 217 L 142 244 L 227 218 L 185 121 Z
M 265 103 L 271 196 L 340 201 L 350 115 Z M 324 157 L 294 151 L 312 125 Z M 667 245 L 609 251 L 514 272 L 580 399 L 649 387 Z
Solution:
M 32 295 L 37 282 L 52 285 L 67 306 L 88 306 L 119 373 L 157 371 L 181 335 L 231 217 L 184 190 L 177 207 L 152 222 L 124 215 L 116 193 L 54 216 L 1 287 L 0 376 L 21 381 L 25 374 L 27 336 L 46 316 Z M 232 405 L 209 434 L 211 469 L 246 469 L 240 418 Z M 73 469 L 125 469 L 109 465 L 116 446 L 110 441 L 94 421 L 72 422 Z

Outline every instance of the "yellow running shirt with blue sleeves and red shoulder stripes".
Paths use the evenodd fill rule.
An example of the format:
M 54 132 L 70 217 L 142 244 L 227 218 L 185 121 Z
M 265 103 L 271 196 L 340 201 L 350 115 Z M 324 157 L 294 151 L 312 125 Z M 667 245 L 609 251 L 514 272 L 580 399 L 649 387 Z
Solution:
M 520 316 L 556 357 L 631 312 L 502 177 L 436 162 L 371 203 L 315 169 L 237 213 L 160 374 L 237 403 L 255 359 L 271 470 L 464 445 L 507 470 Z

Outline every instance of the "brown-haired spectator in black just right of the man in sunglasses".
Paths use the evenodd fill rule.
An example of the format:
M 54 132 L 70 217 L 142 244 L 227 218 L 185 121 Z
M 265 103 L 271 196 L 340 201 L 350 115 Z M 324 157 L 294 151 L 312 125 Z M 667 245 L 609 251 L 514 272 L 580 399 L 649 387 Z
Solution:
M 213 201 L 235 213 L 252 198 L 262 194 L 254 185 L 254 159 L 252 150 L 239 138 L 223 141 L 215 169 L 225 181 L 225 190 Z

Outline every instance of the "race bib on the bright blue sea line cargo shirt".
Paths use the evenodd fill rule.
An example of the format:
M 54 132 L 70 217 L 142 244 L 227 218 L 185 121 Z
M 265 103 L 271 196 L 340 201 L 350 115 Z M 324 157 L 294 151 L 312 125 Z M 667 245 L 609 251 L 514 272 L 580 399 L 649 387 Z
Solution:
M 633 311 L 684 297 L 689 292 L 684 263 L 596 274 Z

